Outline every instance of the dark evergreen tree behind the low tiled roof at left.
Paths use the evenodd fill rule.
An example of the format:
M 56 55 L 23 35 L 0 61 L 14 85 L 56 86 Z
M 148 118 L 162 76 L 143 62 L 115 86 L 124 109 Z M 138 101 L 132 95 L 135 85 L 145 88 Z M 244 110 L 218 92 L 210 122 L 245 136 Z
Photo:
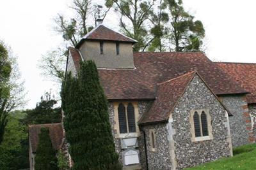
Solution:
M 57 101 L 46 92 L 33 110 L 26 110 L 25 124 L 52 124 L 61 122 L 61 108 L 54 108 Z

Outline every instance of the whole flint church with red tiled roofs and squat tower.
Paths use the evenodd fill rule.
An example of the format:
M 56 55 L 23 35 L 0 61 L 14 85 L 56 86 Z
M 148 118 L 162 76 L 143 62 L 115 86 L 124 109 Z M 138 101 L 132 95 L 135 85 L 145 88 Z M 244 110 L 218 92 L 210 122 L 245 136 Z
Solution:
M 256 64 L 135 43 L 99 24 L 68 49 L 66 68 L 76 76 L 81 60 L 95 61 L 123 169 L 184 169 L 255 142 Z

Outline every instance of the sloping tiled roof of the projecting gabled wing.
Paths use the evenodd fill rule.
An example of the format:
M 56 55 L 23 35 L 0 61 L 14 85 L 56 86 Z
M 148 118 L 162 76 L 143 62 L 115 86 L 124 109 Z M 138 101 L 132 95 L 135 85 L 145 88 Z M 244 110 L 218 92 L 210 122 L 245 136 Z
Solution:
M 184 94 L 189 82 L 195 76 L 195 71 L 184 74 L 177 78 L 164 81 L 157 85 L 156 100 L 147 113 L 143 114 L 139 124 L 150 122 L 163 122 L 168 120 L 171 111 Z

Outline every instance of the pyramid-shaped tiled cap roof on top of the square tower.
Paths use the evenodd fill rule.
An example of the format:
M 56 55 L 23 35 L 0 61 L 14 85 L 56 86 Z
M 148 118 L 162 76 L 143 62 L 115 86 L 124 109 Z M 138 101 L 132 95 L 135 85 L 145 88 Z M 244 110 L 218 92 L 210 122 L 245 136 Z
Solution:
M 85 39 L 91 39 L 91 40 L 106 40 L 106 41 L 124 41 L 124 42 L 130 42 L 130 43 L 136 43 L 137 41 L 135 39 L 129 38 L 125 36 L 124 34 L 120 34 L 119 32 L 113 31 L 112 29 L 109 29 L 108 27 L 100 24 L 92 31 L 88 32 L 81 41 L 76 46 L 77 48 L 83 43 Z

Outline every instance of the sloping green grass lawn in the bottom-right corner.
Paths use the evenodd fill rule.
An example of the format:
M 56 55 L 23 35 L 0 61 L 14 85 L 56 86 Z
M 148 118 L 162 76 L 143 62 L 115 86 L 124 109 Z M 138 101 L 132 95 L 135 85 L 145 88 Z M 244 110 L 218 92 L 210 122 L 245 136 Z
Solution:
M 201 166 L 191 167 L 187 170 L 219 170 L 219 169 L 239 169 L 239 170 L 256 170 L 256 144 L 244 145 L 234 148 L 234 157 L 223 158 L 202 164 Z

